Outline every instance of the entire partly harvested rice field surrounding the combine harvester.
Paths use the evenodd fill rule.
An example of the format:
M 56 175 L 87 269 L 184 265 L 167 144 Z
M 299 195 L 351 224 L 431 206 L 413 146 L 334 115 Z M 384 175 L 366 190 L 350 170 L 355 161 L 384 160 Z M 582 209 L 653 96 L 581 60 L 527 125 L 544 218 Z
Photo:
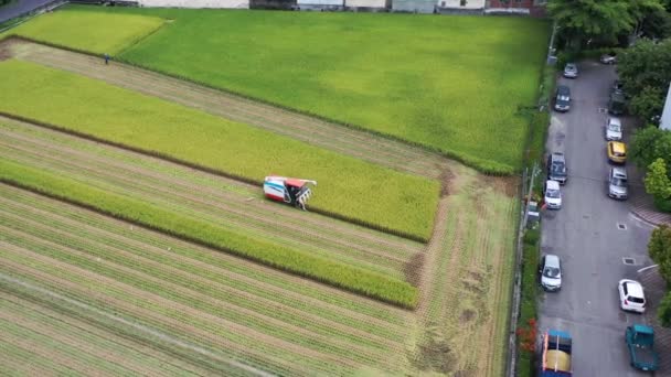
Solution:
M 0 35 L 52 44 L 0 43 L 3 370 L 501 376 L 516 180 L 444 155 L 519 168 L 546 29 L 67 7 Z

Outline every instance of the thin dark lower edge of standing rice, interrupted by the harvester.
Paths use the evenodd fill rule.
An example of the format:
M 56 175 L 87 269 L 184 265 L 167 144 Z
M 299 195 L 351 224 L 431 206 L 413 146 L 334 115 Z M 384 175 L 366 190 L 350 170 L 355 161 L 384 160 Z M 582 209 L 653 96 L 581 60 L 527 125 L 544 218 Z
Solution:
M 185 160 L 181 160 L 181 159 L 171 157 L 171 155 L 166 154 L 166 153 L 160 153 L 160 152 L 155 152 L 155 151 L 148 151 L 148 150 L 145 150 L 145 149 L 141 149 L 141 148 L 136 148 L 136 147 L 132 147 L 132 146 L 127 146 L 125 143 L 110 141 L 110 140 L 107 140 L 107 139 L 104 139 L 104 138 L 98 138 L 98 137 L 95 137 L 95 136 L 92 136 L 92 134 L 88 134 L 88 133 L 74 131 L 72 129 L 67 129 L 67 128 L 64 128 L 64 127 L 51 125 L 51 123 L 43 122 L 43 121 L 40 121 L 40 120 L 35 120 L 35 119 L 31 119 L 31 118 L 13 115 L 13 114 L 10 114 L 10 112 L 0 111 L 0 117 L 9 118 L 9 119 L 21 121 L 21 122 L 24 122 L 24 123 L 30 123 L 30 125 L 33 125 L 33 126 L 38 126 L 38 127 L 42 127 L 42 128 L 45 128 L 45 129 L 50 129 L 52 131 L 62 132 L 62 133 L 65 133 L 65 134 L 70 134 L 70 136 L 73 136 L 73 137 L 86 139 L 86 140 L 98 142 L 98 143 L 103 143 L 103 144 L 106 144 L 106 146 L 124 149 L 124 150 L 131 151 L 131 152 L 135 152 L 135 153 L 140 153 L 140 154 L 143 154 L 143 155 L 161 159 L 161 160 L 164 160 L 164 161 L 168 161 L 168 162 L 171 162 L 171 163 L 175 163 L 175 164 L 179 164 L 179 165 L 182 165 L 182 166 L 191 168 L 191 169 L 199 170 L 199 171 L 202 171 L 202 172 L 206 172 L 206 173 L 210 173 L 210 174 L 219 175 L 219 176 L 226 177 L 226 179 L 230 179 L 230 180 L 235 180 L 235 181 L 243 182 L 243 183 L 246 183 L 246 184 L 249 184 L 249 185 L 255 185 L 255 186 L 260 187 L 262 184 L 263 184 L 262 181 L 251 180 L 251 179 L 247 179 L 247 177 L 244 177 L 244 176 L 241 176 L 241 175 L 231 174 L 231 173 L 217 170 L 217 169 L 213 169 L 213 168 L 209 168 L 209 166 L 201 165 L 201 164 L 198 164 L 198 163 L 193 163 L 193 162 L 189 162 L 189 161 L 185 161 Z M 365 220 L 362 220 L 362 219 L 352 218 L 352 217 L 349 217 L 349 216 L 344 216 L 344 215 L 341 215 L 341 214 L 338 214 L 338 213 L 334 213 L 334 212 L 331 212 L 331 211 L 326 211 L 326 209 L 321 209 L 321 208 L 309 208 L 309 211 L 313 212 L 316 214 L 319 214 L 319 215 L 328 216 L 328 217 L 331 217 L 331 218 L 334 218 L 334 219 L 338 219 L 338 220 L 342 220 L 342 222 L 347 222 L 347 223 L 350 223 L 350 224 L 359 225 L 359 226 L 362 226 L 362 227 L 365 227 L 365 228 L 369 228 L 369 229 L 386 233 L 386 234 L 390 234 L 390 235 L 393 235 L 393 236 L 397 236 L 397 237 L 402 237 L 402 238 L 406 238 L 406 239 L 409 239 L 409 240 L 414 240 L 414 241 L 418 241 L 418 243 L 423 243 L 423 244 L 425 244 L 425 243 L 428 241 L 424 237 L 419 237 L 419 236 L 416 236 L 416 235 L 413 235 L 413 234 L 409 234 L 409 233 L 406 233 L 406 231 L 391 229 L 391 228 L 387 228 L 387 227 L 384 227 L 384 226 L 380 226 L 380 225 L 376 225 L 376 224 L 371 224 L 369 222 L 365 222 Z

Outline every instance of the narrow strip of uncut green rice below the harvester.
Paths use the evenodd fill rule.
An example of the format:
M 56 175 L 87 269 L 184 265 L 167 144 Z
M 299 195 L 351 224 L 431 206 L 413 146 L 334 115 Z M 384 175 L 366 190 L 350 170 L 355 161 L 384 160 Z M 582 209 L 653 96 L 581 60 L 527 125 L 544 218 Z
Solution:
M 98 209 L 117 218 L 216 247 L 236 256 L 404 308 L 414 308 L 417 303 L 417 289 L 405 281 L 260 241 L 198 218 L 182 216 L 142 201 L 108 193 L 39 169 L 0 160 L 0 179 Z

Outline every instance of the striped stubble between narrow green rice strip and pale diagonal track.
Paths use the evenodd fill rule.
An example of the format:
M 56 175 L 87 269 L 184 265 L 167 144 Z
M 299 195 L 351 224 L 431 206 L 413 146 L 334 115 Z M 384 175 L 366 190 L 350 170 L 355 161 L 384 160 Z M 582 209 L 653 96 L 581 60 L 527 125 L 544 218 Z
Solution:
M 284 374 L 394 370 L 403 353 L 405 311 L 18 188 L 0 193 L 2 273 Z

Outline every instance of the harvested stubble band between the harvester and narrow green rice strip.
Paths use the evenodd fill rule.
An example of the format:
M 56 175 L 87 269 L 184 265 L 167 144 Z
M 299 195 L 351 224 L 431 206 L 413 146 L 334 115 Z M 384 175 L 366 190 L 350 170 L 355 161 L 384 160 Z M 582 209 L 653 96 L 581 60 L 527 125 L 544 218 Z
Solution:
M 423 245 L 268 203 L 258 188 L 75 137 L 0 119 L 0 157 L 61 172 L 273 243 L 404 278 Z M 117 158 L 120 157 L 120 158 Z M 207 176 L 211 186 L 195 182 Z M 235 187 L 221 190 L 216 186 Z

